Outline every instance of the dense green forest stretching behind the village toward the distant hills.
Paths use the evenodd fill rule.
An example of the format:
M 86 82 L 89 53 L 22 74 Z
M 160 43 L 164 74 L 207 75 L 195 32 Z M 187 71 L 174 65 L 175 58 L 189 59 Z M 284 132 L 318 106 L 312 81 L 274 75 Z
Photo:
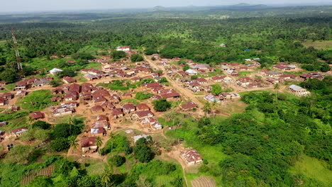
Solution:
M 309 71 L 326 72 L 328 64 L 319 60 L 332 61 L 331 50 L 303 45 L 308 40 L 331 40 L 328 16 L 4 24 L 0 27 L 0 40 L 4 41 L 0 46 L 0 63 L 9 67 L 15 60 L 11 28 L 16 28 L 26 67 L 38 57 L 77 52 L 106 55 L 118 45 L 145 47 L 147 55 L 159 52 L 162 57 L 182 57 L 212 65 L 260 57 L 262 67 L 274 62 L 299 62 Z M 227 47 L 219 47 L 220 43 Z

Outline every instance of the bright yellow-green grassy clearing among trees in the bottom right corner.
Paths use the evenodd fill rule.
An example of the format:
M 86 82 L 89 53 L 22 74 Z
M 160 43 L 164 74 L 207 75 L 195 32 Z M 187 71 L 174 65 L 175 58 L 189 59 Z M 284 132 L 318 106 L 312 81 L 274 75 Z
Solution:
M 304 176 L 320 181 L 323 186 L 331 186 L 332 171 L 327 169 L 325 163 L 303 155 L 301 160 L 291 169 L 292 174 L 304 174 Z

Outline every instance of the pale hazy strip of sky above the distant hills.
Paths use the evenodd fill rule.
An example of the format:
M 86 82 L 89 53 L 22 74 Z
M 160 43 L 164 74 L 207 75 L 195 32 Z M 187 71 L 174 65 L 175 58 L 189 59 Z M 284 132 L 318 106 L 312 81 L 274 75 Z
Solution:
M 332 3 L 332 0 L 318 0 Z M 0 12 L 11 11 L 65 11 L 114 8 L 148 8 L 153 6 L 214 6 L 238 3 L 301 4 L 317 0 L 0 0 Z

